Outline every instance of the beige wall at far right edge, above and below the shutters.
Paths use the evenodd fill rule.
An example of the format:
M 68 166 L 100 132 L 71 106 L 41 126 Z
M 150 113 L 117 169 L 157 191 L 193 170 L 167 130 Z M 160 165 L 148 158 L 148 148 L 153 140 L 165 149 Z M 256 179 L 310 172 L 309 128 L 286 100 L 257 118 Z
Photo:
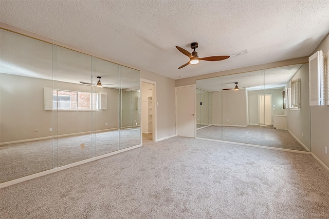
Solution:
M 319 50 L 324 53 L 329 50 L 329 34 L 312 54 Z M 329 167 L 329 106 L 310 107 L 310 130 L 312 153 Z M 324 153 L 324 147 L 327 147 L 328 154 Z

